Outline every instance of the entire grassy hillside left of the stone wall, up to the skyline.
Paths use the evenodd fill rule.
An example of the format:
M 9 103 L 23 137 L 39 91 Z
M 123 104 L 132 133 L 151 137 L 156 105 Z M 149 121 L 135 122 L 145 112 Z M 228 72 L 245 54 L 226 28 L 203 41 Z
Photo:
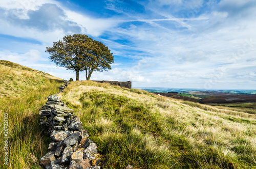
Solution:
M 4 114 L 8 114 L 9 168 L 42 168 L 38 159 L 49 140 L 40 135 L 39 108 L 63 80 L 9 61 L 0 61 L 0 168 L 4 155 Z

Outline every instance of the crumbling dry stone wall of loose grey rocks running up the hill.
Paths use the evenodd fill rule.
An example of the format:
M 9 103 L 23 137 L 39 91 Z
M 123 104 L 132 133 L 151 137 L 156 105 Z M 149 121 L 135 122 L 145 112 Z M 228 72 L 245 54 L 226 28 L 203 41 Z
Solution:
M 65 81 L 59 91 L 69 85 Z M 80 119 L 74 110 L 60 100 L 57 95 L 50 95 L 39 111 L 40 126 L 50 136 L 49 152 L 40 159 L 47 169 L 98 169 L 100 155 L 97 145 L 89 139 Z

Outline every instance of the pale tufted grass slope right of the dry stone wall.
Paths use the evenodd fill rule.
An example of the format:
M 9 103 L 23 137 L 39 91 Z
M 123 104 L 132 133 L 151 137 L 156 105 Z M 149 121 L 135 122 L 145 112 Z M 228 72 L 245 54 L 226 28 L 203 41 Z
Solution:
M 92 81 L 61 94 L 104 168 L 255 168 L 256 115 Z

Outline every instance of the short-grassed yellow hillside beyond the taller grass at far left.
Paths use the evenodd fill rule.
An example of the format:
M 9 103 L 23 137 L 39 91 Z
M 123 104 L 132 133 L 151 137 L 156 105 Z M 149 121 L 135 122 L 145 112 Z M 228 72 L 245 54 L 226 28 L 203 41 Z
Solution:
M 29 88 L 44 86 L 46 80 L 63 81 L 48 73 L 0 60 L 0 97 L 17 96 Z

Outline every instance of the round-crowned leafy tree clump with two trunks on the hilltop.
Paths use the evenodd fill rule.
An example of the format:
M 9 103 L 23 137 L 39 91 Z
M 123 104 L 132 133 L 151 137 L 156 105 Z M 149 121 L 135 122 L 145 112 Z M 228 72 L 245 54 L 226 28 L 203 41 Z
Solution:
M 108 71 L 114 62 L 113 53 L 107 46 L 82 34 L 68 35 L 53 42 L 52 47 L 46 47 L 46 52 L 57 66 L 74 70 L 76 80 L 79 80 L 80 71 L 86 71 L 86 79 L 90 80 L 93 71 Z

